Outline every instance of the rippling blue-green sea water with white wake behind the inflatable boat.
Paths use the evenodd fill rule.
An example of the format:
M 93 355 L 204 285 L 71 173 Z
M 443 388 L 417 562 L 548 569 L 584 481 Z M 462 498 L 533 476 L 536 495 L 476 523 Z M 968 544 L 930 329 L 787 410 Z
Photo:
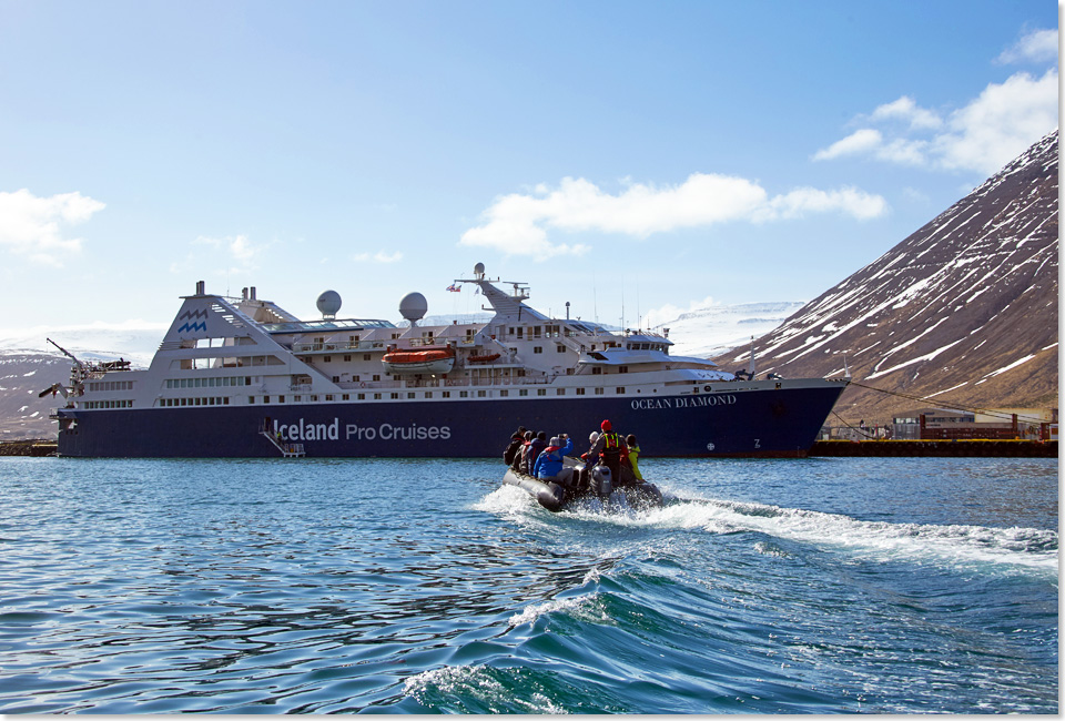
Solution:
M 1058 712 L 1057 460 L 0 461 L 0 712 Z

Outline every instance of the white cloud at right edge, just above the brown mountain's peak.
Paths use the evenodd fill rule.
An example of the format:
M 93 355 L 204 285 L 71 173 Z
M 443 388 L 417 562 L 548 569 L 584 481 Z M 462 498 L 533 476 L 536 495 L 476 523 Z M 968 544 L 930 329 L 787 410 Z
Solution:
M 859 119 L 905 128 L 863 128 L 814 153 L 814 160 L 865 156 L 900 165 L 975 171 L 985 175 L 1023 153 L 1057 126 L 1057 71 L 1035 79 L 1026 72 L 991 83 L 980 97 L 942 120 L 909 97 Z M 924 132 L 924 135 L 922 135 Z

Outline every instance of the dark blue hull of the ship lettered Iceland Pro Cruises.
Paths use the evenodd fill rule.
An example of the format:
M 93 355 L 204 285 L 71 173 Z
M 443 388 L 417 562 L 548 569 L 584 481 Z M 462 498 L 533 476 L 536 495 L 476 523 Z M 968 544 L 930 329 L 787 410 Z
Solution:
M 70 457 L 254 458 L 281 453 L 261 430 L 303 444 L 307 457 L 500 456 L 523 425 L 578 439 L 609 418 L 648 456 L 802 457 L 845 383 L 620 398 L 409 400 L 58 412 Z M 71 422 L 74 423 L 71 423 Z

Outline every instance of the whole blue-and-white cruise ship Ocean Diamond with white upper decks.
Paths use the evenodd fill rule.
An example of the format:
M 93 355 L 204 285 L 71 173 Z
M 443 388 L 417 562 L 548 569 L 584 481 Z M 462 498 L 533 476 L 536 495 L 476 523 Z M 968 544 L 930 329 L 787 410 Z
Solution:
M 733 374 L 671 355 L 668 332 L 548 317 L 480 263 L 449 290 L 470 285 L 487 323 L 427 325 L 419 293 L 399 303 L 408 325 L 338 318 L 333 291 L 301 321 L 254 287 L 201 281 L 146 369 L 71 355 L 59 455 L 494 457 L 518 426 L 584 438 L 610 419 L 646 456 L 801 457 L 846 386 Z

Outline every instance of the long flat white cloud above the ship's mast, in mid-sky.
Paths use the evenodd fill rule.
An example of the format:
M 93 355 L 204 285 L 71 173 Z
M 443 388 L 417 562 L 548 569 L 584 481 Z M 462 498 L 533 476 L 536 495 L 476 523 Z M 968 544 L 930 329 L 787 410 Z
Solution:
M 879 211 L 875 211 L 878 202 Z M 885 210 L 882 199 L 853 189 L 832 192 L 799 189 L 770 199 L 758 183 L 707 173 L 693 173 L 683 183 L 666 187 L 628 182 L 625 191 L 616 195 L 588 180 L 566 177 L 556 189 L 539 184 L 531 194 L 514 193 L 497 199 L 481 214 L 484 223 L 466 231 L 459 244 L 546 260 L 564 254 L 580 255 L 590 250 L 584 244 L 551 243 L 549 227 L 642 238 L 652 233 L 729 221 L 765 222 L 811 212 L 842 212 L 865 220 Z

